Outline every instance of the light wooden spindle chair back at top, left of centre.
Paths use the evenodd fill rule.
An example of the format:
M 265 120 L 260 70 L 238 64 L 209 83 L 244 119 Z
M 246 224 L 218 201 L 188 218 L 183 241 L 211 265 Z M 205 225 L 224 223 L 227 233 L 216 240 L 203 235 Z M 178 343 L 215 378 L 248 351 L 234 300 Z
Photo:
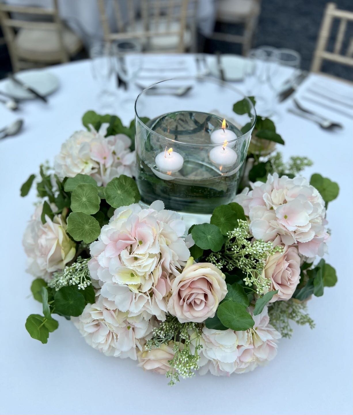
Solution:
M 196 19 L 197 0 L 112 0 L 117 32 L 112 32 L 105 0 L 98 0 L 105 41 L 141 39 L 150 49 L 151 38 L 174 35 L 173 50 L 185 50 L 184 33 L 190 18 Z M 166 51 L 166 50 L 163 50 Z

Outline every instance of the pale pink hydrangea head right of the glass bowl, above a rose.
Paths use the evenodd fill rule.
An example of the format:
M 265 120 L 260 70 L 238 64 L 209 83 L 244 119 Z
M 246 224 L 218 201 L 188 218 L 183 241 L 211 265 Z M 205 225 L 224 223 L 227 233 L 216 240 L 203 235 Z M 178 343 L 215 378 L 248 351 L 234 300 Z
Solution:
M 299 254 L 323 256 L 329 238 L 325 203 L 307 179 L 268 175 L 266 183 L 252 184 L 236 196 L 248 215 L 256 239 L 287 246 L 297 244 Z

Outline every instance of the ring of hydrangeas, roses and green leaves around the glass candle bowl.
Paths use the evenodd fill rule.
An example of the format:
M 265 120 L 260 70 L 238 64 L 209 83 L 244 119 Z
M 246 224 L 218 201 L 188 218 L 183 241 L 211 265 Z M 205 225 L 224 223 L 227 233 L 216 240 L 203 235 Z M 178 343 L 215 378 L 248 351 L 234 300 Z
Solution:
M 314 327 L 307 300 L 337 279 L 321 257 L 338 185 L 299 176 L 306 158 L 273 154 L 284 142 L 272 121 L 256 120 L 241 180 L 249 187 L 190 229 L 160 200 L 139 205 L 133 123 L 90 111 L 83 124 L 35 182 L 41 200 L 23 237 L 43 304 L 27 318 L 34 339 L 47 342 L 58 314 L 93 348 L 173 385 L 195 371 L 252 371 L 291 336 L 290 320 Z

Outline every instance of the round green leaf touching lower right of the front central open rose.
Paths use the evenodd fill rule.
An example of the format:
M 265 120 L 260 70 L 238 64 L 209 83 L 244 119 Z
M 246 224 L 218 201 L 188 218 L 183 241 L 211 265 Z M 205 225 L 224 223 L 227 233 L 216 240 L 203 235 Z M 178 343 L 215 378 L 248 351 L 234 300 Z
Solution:
M 245 306 L 233 301 L 225 301 L 219 304 L 217 316 L 225 327 L 229 327 L 234 331 L 248 330 L 255 324 Z

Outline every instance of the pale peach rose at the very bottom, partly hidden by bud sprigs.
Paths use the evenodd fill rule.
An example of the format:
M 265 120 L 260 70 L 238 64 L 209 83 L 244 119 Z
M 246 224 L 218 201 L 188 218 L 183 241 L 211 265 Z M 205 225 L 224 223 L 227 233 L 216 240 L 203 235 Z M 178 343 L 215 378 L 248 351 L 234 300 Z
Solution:
M 165 375 L 170 369 L 169 361 L 174 357 L 173 342 L 169 344 L 161 344 L 158 349 L 145 350 L 139 352 L 137 358 L 139 359 L 139 365 L 144 370 L 151 370 L 160 375 Z

